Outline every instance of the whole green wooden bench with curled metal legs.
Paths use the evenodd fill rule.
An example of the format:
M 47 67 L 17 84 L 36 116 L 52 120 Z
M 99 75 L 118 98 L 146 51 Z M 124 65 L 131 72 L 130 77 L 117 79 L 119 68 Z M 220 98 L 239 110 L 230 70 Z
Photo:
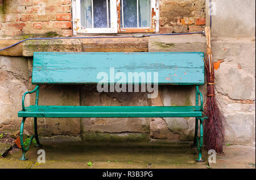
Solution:
M 141 53 L 65 53 L 65 52 L 35 52 L 32 69 L 32 85 L 35 89 L 24 93 L 22 97 L 22 117 L 20 125 L 20 145 L 22 158 L 27 160 L 25 153 L 35 138 L 39 143 L 37 118 L 140 118 L 140 117 L 195 117 L 195 140 L 199 158 L 203 162 L 201 148 L 203 146 L 203 97 L 198 85 L 204 85 L 204 53 L 203 52 L 141 52 Z M 114 68 L 114 69 L 113 69 Z M 98 74 L 105 72 L 108 77 L 110 70 L 115 73 L 145 72 L 158 73 L 158 81 L 148 78 L 147 83 L 158 85 L 196 85 L 196 106 L 39 106 L 40 85 L 92 85 L 97 84 Z M 105 79 L 102 81 L 113 85 L 123 83 L 127 85 L 143 85 L 145 80 L 139 78 L 134 81 L 123 79 Z M 25 107 L 24 99 L 27 94 L 36 93 L 35 105 Z M 200 97 L 200 105 L 199 105 Z M 27 147 L 23 144 L 23 127 L 26 118 L 34 118 L 35 135 L 31 136 Z M 197 136 L 198 122 L 200 121 L 200 139 Z

